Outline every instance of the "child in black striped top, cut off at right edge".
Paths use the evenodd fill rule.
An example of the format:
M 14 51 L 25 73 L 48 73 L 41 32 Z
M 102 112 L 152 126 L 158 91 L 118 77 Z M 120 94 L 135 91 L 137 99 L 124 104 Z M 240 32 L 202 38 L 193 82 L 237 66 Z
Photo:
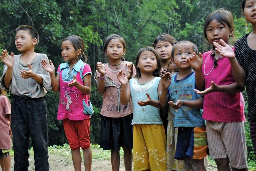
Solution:
M 241 12 L 243 12 L 244 18 L 246 19 L 246 26 L 247 22 L 251 23 L 252 32 L 245 34 L 236 41 L 235 55 L 224 42 L 221 44 L 222 46 L 216 46 L 216 50 L 219 49 L 217 50 L 219 53 L 229 58 L 234 80 L 237 84 L 246 87 L 251 142 L 254 148 L 254 154 L 256 155 L 256 0 L 242 0 Z

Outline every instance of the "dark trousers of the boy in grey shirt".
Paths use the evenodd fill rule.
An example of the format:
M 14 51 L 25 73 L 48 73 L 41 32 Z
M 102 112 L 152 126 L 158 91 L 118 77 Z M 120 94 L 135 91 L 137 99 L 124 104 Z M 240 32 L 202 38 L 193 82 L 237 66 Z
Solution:
M 47 105 L 44 97 L 35 99 L 14 95 L 11 118 L 14 170 L 28 171 L 30 136 L 34 150 L 35 170 L 48 171 Z

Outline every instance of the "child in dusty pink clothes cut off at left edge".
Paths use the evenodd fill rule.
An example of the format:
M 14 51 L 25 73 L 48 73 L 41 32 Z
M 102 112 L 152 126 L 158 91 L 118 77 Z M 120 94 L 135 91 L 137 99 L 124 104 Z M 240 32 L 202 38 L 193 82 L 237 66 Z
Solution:
M 0 165 L 2 171 L 11 170 L 12 129 L 11 104 L 6 91 L 0 89 Z

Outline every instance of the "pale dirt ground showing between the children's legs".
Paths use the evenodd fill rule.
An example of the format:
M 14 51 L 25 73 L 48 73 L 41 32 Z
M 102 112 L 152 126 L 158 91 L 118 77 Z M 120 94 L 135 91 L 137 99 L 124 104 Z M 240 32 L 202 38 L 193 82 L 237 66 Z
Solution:
M 12 157 L 11 170 L 14 170 L 14 159 Z M 74 166 L 70 158 L 62 157 L 49 153 L 50 171 L 72 171 Z M 83 164 L 83 163 L 82 163 Z M 34 171 L 34 156 L 29 157 L 29 171 Z M 82 165 L 82 170 L 84 166 Z M 93 160 L 92 171 L 110 171 L 112 170 L 110 160 Z M 120 171 L 125 171 L 123 160 L 120 161 Z

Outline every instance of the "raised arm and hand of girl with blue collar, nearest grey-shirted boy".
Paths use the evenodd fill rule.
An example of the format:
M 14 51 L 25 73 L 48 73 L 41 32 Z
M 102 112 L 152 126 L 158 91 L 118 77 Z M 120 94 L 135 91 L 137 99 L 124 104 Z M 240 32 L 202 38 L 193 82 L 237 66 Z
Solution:
M 42 59 L 41 64 L 42 64 L 41 65 L 42 68 L 45 71 L 50 73 L 52 90 L 55 93 L 58 92 L 59 91 L 59 74 L 57 74 L 57 77 L 55 77 L 55 67 L 52 61 L 50 60 L 48 63 L 45 59 Z

